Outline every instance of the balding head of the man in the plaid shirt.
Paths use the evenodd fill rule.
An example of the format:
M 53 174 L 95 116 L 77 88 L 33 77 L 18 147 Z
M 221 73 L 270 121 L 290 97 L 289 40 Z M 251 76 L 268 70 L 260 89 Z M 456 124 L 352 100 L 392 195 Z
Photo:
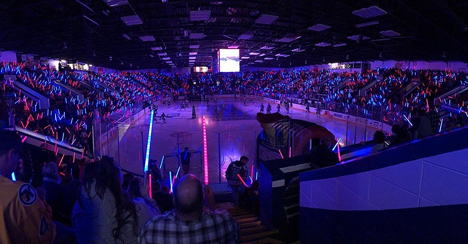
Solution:
M 187 174 L 174 188 L 174 205 L 180 213 L 193 213 L 203 209 L 203 188 L 200 180 Z

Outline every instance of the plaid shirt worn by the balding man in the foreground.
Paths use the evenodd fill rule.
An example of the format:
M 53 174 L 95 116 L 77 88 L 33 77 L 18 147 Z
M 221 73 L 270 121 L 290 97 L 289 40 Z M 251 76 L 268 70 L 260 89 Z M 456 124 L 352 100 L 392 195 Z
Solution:
M 142 244 L 235 244 L 240 241 L 240 229 L 225 210 L 204 210 L 194 221 L 184 221 L 175 210 L 153 217 L 141 231 Z

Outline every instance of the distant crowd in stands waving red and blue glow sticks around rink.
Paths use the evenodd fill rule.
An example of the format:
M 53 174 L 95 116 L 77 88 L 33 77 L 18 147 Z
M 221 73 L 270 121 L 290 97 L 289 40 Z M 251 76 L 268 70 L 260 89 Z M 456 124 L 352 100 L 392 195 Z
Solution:
M 89 138 L 95 111 L 98 111 L 97 116 L 102 122 L 112 124 L 141 109 L 148 101 L 161 97 L 185 96 L 188 100 L 201 100 L 213 94 L 258 95 L 312 107 L 320 103 L 326 110 L 401 124 L 404 122 L 403 114 L 410 119 L 412 111 L 422 107 L 428 109 L 441 94 L 468 84 L 464 73 L 397 68 L 378 68 L 363 73 L 279 69 L 213 75 L 157 71 L 82 72 L 51 70 L 47 65 L 27 67 L 24 63 L 3 62 L 0 63 L 0 73 L 15 75 L 18 82 L 49 98 L 50 108 L 47 111 L 39 109 L 38 103 L 24 92 L 20 94 L 18 89 L 13 89 L 11 81 L 3 81 L 1 93 L 10 99 L 6 102 L 8 106 L 15 109 L 16 125 L 57 139 L 63 138 L 63 141 L 77 147 L 91 146 Z M 365 95 L 361 94 L 360 90 L 369 84 L 373 85 Z M 67 87 L 82 94 L 83 101 Z M 467 111 L 465 93 L 437 103 L 439 107 L 436 110 L 441 104 L 453 104 L 461 108 L 460 112 Z M 450 114 L 450 123 L 446 125 L 456 126 L 454 122 L 464 120 L 459 117 L 463 116 Z M 42 118 L 46 121 L 42 122 L 44 126 L 36 126 L 39 123 L 34 123 L 34 120 Z M 45 128 L 47 124 L 51 126 Z

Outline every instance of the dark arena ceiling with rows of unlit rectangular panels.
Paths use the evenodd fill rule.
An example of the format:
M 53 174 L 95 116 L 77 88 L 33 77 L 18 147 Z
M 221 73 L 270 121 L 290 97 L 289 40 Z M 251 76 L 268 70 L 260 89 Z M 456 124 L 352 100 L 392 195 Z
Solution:
M 122 5 L 111 6 L 119 3 Z M 386 14 L 365 18 L 352 13 L 371 6 Z M 208 20 L 191 20 L 190 11 L 210 11 L 205 16 Z M 200 13 L 207 12 L 192 14 Z M 134 15 L 141 19 L 140 24 L 128 26 L 121 19 Z M 262 15 L 278 18 L 271 24 L 258 23 L 259 17 L 265 17 Z M 372 21 L 378 24 L 356 27 Z M 316 24 L 330 28 L 309 30 Z M 211 66 L 215 50 L 228 46 L 239 46 L 241 56 L 250 57 L 241 59 L 241 65 L 263 67 L 386 59 L 468 61 L 467 25 L 467 0 L 0 1 L 2 50 L 117 70 L 169 68 L 166 61 L 188 67 L 189 52 L 197 52 L 192 54 L 195 66 Z M 389 30 L 399 35 L 381 33 Z M 190 38 L 194 33 L 203 33 L 203 37 Z M 252 37 L 239 39 L 242 34 Z M 152 35 L 154 41 L 140 39 L 146 35 Z M 348 38 L 355 35 L 355 40 Z M 322 42 L 331 45 L 316 45 Z M 334 46 L 342 43 L 346 45 Z M 261 49 L 264 46 L 273 49 Z M 292 52 L 294 49 L 304 51 Z M 158 55 L 162 52 L 167 55 Z M 167 57 L 170 60 L 162 60 Z

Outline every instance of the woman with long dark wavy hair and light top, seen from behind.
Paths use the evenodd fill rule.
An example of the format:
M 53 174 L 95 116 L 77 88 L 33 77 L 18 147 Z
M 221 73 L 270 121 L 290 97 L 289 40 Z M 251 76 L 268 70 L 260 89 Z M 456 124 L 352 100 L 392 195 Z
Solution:
M 88 163 L 72 222 L 78 244 L 137 243 L 135 204 L 122 190 L 123 176 L 112 157 Z

